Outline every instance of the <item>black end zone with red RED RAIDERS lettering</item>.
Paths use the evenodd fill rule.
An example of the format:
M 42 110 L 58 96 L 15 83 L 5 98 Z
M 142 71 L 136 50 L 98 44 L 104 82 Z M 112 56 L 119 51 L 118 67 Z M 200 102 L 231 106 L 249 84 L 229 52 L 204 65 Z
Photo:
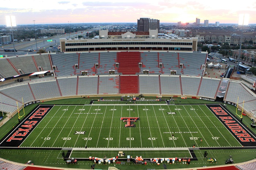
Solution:
M 242 146 L 256 146 L 255 136 L 221 105 L 206 104 Z

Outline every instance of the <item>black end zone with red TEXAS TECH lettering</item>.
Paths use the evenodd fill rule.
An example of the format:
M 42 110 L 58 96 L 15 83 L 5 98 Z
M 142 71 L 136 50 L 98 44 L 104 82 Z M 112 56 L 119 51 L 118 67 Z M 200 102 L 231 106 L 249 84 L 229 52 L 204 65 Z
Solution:
M 19 147 L 52 108 L 53 105 L 38 105 L 25 120 L 1 140 L 0 147 Z

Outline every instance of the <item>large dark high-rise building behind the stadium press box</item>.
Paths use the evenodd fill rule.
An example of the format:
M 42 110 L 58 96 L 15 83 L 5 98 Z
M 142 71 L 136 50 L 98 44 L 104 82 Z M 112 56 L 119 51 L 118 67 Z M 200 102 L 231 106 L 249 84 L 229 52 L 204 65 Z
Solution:
M 159 32 L 159 20 L 158 19 L 150 19 L 150 18 L 140 18 L 138 19 L 138 31 L 148 31 L 157 30 Z

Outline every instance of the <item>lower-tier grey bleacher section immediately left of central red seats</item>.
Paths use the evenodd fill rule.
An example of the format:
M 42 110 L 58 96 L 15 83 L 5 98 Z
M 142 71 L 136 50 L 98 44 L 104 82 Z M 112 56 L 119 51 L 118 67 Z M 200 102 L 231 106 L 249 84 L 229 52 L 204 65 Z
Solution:
M 99 77 L 99 94 L 118 94 L 119 93 L 119 76 Z

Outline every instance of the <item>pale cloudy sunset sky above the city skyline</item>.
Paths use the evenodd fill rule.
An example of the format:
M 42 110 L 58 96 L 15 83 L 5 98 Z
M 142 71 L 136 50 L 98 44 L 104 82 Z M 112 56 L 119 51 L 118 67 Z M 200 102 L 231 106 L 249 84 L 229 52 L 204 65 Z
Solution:
M 238 4 L 238 3 L 241 3 Z M 0 0 L 0 25 L 14 15 L 16 24 L 55 23 L 137 23 L 153 18 L 160 23 L 238 23 L 239 15 L 249 14 L 256 24 L 256 0 Z

